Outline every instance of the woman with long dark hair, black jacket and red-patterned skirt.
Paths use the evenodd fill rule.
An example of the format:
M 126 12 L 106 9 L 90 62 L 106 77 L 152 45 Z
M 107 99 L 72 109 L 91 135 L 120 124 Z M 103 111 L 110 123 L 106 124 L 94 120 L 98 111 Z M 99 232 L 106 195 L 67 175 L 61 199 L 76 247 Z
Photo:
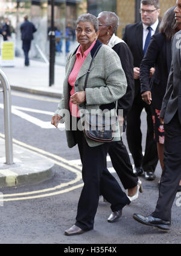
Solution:
M 160 23 L 160 33 L 153 35 L 140 66 L 141 93 L 145 103 L 150 104 L 154 124 L 154 140 L 160 166 L 164 168 L 164 126 L 160 123 L 160 109 L 165 95 L 171 66 L 171 39 L 180 30 L 175 19 L 174 8 L 164 13 Z M 150 67 L 155 68 L 150 81 Z M 152 99 L 152 101 L 151 101 Z

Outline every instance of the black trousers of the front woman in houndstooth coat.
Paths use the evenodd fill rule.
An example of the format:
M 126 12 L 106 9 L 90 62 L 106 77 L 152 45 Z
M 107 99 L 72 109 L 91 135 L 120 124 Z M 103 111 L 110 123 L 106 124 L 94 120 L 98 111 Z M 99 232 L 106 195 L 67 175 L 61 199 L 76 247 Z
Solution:
M 94 227 L 100 195 L 111 204 L 110 208 L 113 212 L 121 210 L 130 200 L 106 167 L 107 152 L 114 142 L 89 147 L 83 132 L 79 130 L 72 132 L 78 143 L 84 182 L 78 201 L 75 225 L 83 230 L 90 230 Z

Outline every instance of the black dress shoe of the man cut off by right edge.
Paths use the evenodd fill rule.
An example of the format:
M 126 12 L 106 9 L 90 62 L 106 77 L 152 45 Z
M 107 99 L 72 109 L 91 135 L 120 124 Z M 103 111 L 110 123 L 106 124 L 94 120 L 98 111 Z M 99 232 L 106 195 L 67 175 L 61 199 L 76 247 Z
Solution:
M 139 214 L 133 214 L 133 218 L 139 223 L 145 224 L 147 226 L 159 227 L 159 229 L 164 229 L 168 231 L 170 229 L 170 221 L 162 220 L 161 218 L 154 218 L 153 216 L 144 217 Z

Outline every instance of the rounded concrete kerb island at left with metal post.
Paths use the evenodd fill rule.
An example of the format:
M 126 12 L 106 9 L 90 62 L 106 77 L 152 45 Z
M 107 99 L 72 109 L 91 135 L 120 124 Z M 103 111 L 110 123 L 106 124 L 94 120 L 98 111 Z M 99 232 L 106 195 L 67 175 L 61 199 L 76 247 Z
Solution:
M 37 184 L 53 177 L 54 163 L 13 144 L 14 164 L 5 164 L 5 141 L 0 139 L 0 187 Z

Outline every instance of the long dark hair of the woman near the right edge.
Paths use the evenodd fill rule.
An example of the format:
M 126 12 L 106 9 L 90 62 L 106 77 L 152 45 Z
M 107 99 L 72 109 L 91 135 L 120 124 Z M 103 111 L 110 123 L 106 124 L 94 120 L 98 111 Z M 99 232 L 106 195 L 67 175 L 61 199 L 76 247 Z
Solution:
M 164 17 L 159 26 L 159 32 L 164 33 L 167 39 L 173 37 L 174 33 L 176 33 L 177 21 L 175 19 L 174 8 L 171 7 L 164 13 Z

